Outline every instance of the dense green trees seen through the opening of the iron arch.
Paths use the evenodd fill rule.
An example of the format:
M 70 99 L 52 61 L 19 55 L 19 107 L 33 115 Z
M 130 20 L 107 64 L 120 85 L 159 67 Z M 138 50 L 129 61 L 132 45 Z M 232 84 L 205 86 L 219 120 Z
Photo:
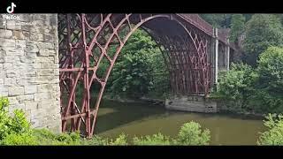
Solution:
M 141 29 L 131 35 L 111 72 L 107 91 L 111 95 L 141 97 L 168 90 L 169 75 L 157 43 Z

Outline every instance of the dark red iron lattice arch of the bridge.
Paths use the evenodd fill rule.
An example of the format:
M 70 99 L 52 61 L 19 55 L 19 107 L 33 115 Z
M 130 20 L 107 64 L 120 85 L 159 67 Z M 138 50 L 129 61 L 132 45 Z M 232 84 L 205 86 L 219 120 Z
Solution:
M 208 95 L 213 29 L 196 14 L 59 14 L 63 132 L 93 135 L 113 64 L 137 28 L 162 46 L 174 95 Z M 102 63 L 107 69 L 98 75 Z M 90 94 L 93 86 L 99 88 L 98 95 Z

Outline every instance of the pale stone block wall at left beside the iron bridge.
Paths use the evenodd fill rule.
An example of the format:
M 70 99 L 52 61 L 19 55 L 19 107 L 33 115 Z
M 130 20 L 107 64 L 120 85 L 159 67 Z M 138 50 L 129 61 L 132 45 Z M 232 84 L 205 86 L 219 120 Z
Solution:
M 0 96 L 35 128 L 60 132 L 57 14 L 0 14 Z M 9 15 L 8 15 L 9 16 Z

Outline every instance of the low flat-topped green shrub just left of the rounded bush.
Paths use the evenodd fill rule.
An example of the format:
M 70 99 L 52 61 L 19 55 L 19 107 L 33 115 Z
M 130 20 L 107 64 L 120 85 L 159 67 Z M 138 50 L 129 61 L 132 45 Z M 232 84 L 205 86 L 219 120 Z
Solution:
M 161 133 L 147 135 L 145 137 L 134 137 L 134 145 L 170 145 L 170 138 Z

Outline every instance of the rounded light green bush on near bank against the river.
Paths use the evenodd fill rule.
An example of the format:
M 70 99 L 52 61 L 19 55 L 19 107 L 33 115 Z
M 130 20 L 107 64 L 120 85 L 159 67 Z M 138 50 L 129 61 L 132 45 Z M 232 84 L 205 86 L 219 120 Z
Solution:
M 177 144 L 180 145 L 208 145 L 210 141 L 210 131 L 202 131 L 201 125 L 193 121 L 181 126 L 177 137 Z

